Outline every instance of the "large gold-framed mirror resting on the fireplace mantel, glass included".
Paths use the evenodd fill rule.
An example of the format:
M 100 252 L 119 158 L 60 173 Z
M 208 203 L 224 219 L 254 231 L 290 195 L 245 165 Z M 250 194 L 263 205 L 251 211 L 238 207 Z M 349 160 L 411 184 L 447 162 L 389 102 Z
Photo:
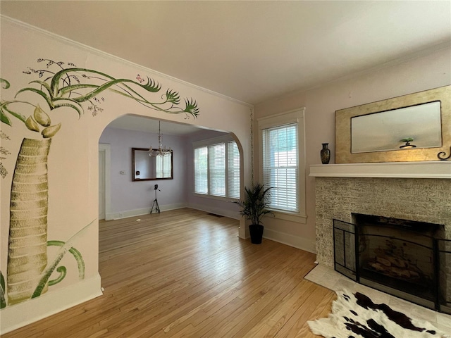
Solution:
M 451 151 L 451 86 L 335 112 L 335 163 L 438 161 Z

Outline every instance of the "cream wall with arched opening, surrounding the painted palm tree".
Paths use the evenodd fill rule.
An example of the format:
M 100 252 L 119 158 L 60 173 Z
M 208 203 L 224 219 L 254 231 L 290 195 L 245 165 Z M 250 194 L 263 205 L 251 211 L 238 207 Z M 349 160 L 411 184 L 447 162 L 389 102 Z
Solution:
M 18 106 L 17 113 L 28 117 L 33 113 L 32 105 L 39 104 L 47 114 L 51 115 L 52 125 L 61 123 L 61 130 L 52 137 L 49 159 L 46 165 L 49 181 L 48 210 L 43 208 L 42 212 L 48 215 L 46 225 L 48 239 L 67 241 L 73 234 L 80 232 L 83 227 L 90 225 L 73 242 L 73 246 L 80 251 L 85 260 L 85 277 L 82 280 L 79 279 L 76 273 L 77 264 L 71 259 L 70 255 L 66 255 L 61 261 L 61 263 L 67 263 L 68 267 L 68 275 L 63 282 L 49 287 L 47 293 L 42 296 L 15 305 L 7 304 L 6 308 L 1 309 L 0 330 L 1 333 L 4 333 L 101 294 L 99 225 L 97 220 L 99 138 L 112 120 L 132 111 L 135 115 L 148 116 L 159 120 L 233 132 L 240 139 L 244 152 L 243 170 L 245 175 L 243 185 L 249 183 L 250 177 L 247 173 L 250 172 L 249 129 L 251 123 L 249 106 L 233 99 L 156 73 L 153 70 L 90 49 L 87 46 L 76 44 L 35 27 L 23 25 L 15 20 L 2 17 L 0 24 L 0 72 L 1 77 L 11 83 L 11 87 L 8 89 L 1 89 L 2 100 L 11 101 L 15 99 L 16 93 L 20 89 L 35 86 L 35 84 L 30 84 L 31 81 L 45 80 L 47 76 L 52 76 L 49 71 L 57 72 L 57 63 L 61 61 L 63 68 L 70 67 L 68 63 L 71 63 L 79 68 L 97 70 L 114 78 L 136 81 L 138 74 L 141 77 L 149 76 L 162 86 L 161 92 L 145 93 L 149 100 L 159 101 L 161 94 L 164 94 L 166 89 L 171 89 L 180 93 L 182 108 L 184 108 L 185 98 L 197 101 L 199 106 L 198 118 L 187 119 L 185 114 L 168 114 L 156 111 L 138 104 L 133 99 L 106 91 L 99 95 L 99 102 L 92 99 L 92 102 L 82 104 L 83 112 L 80 112 L 79 115 L 75 110 L 68 107 L 51 110 L 42 96 L 35 92 L 19 94 L 18 99 L 28 101 L 30 104 Z M 41 59 L 44 61 L 38 62 Z M 51 63 L 47 67 L 49 61 L 46 60 L 55 63 Z M 42 70 L 42 77 L 39 77 L 39 71 L 35 73 L 30 69 Z M 87 78 L 81 78 L 81 80 L 89 82 Z M 71 78 L 71 81 L 76 82 L 75 78 Z M 136 86 L 136 84 L 130 85 Z M 39 88 L 39 86 L 37 87 Z M 89 109 L 89 106 L 92 106 L 94 102 L 102 108 L 102 111 L 99 111 L 97 115 Z M 226 116 L 227 118 L 224 118 Z M 15 172 L 16 158 L 24 138 L 42 139 L 39 133 L 27 130 L 25 124 L 19 119 L 11 119 L 12 125 L 1 123 L 1 132 L 8 136 L 8 139 L 2 137 L 1 146 L 11 153 L 6 156 L 5 160 L 1 161 L 7 174 L 4 178 L 0 178 L 0 270 L 6 278 L 8 234 L 11 227 L 9 219 L 11 184 Z M 140 183 L 142 184 L 142 182 L 136 182 L 136 184 Z M 31 215 L 27 215 L 26 211 L 23 216 L 27 219 L 31 218 Z M 240 230 L 240 235 L 245 236 L 244 227 Z M 53 256 L 54 251 L 48 250 L 49 256 Z M 32 267 L 29 266 L 28 268 L 32 270 Z M 39 275 L 37 277 L 40 278 Z M 37 280 L 37 277 L 35 276 L 34 279 Z

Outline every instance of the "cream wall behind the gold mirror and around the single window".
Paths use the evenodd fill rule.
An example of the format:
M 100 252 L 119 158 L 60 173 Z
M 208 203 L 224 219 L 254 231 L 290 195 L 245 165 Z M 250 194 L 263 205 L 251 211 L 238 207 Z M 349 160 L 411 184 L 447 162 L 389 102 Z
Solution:
M 256 118 L 305 107 L 307 224 L 267 218 L 266 233 L 276 232 L 292 246 L 315 250 L 315 182 L 314 177 L 308 176 L 309 165 L 321 164 L 319 151 L 325 142 L 332 153 L 330 163 L 335 161 L 335 111 L 447 84 L 451 84 L 450 48 L 255 106 Z M 257 134 L 254 135 L 254 163 L 259 163 Z M 255 173 L 258 177 L 258 170 Z

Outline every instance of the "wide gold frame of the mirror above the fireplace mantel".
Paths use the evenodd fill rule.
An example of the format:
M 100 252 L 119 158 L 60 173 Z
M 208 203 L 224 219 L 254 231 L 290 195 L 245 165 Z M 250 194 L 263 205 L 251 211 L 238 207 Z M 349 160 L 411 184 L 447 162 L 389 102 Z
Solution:
M 451 151 L 451 85 L 335 111 L 335 163 L 439 161 Z M 440 101 L 442 146 L 391 151 L 351 152 L 351 118 Z M 445 155 L 446 156 L 446 155 Z

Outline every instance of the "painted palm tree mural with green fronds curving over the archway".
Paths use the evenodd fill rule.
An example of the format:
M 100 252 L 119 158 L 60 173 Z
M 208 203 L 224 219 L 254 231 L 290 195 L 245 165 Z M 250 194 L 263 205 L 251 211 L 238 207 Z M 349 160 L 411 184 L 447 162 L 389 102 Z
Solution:
M 73 63 L 42 58 L 37 62 L 45 63 L 45 68 L 27 68 L 23 72 L 36 76 L 37 80 L 32 80 L 20 89 L 13 99 L 1 98 L 0 102 L 1 123 L 9 126 L 23 123 L 27 130 L 36 134 L 35 138 L 23 139 L 13 172 L 6 281 L 4 272 L 0 272 L 1 308 L 35 298 L 46 292 L 49 286 L 60 282 L 66 276 L 66 268 L 58 264 L 67 252 L 78 263 L 80 279 L 85 277 L 82 254 L 73 247 L 73 242 L 94 221 L 66 242 L 47 239 L 47 159 L 52 140 L 61 129 L 61 123 L 52 123 L 52 116 L 58 109 L 72 110 L 81 117 L 87 108 L 92 116 L 96 116 L 103 111 L 101 103 L 104 98 L 100 95 L 112 92 L 164 113 L 185 114 L 185 118 L 196 118 L 199 113 L 197 102 L 193 99 L 185 99 L 184 107 L 180 106 L 178 92 L 167 89 L 166 93 L 158 94 L 161 92 L 161 84 L 149 77 L 144 79 L 137 75 L 134 80 L 116 79 L 97 70 L 78 68 Z M 6 79 L 0 79 L 0 82 L 4 95 L 10 82 Z M 32 96 L 36 97 L 36 101 L 30 101 Z M 21 97 L 27 99 L 20 99 Z M 149 97 L 156 97 L 156 101 L 151 101 Z M 39 106 L 37 101 L 45 104 Z M 1 132 L 1 138 L 8 139 L 8 135 Z M 0 159 L 8 155 L 11 153 L 2 146 Z M 3 178 L 8 176 L 1 163 L 0 172 Z M 60 246 L 56 259 L 51 262 L 47 258 L 48 246 Z M 59 274 L 58 277 L 50 280 L 55 271 Z

